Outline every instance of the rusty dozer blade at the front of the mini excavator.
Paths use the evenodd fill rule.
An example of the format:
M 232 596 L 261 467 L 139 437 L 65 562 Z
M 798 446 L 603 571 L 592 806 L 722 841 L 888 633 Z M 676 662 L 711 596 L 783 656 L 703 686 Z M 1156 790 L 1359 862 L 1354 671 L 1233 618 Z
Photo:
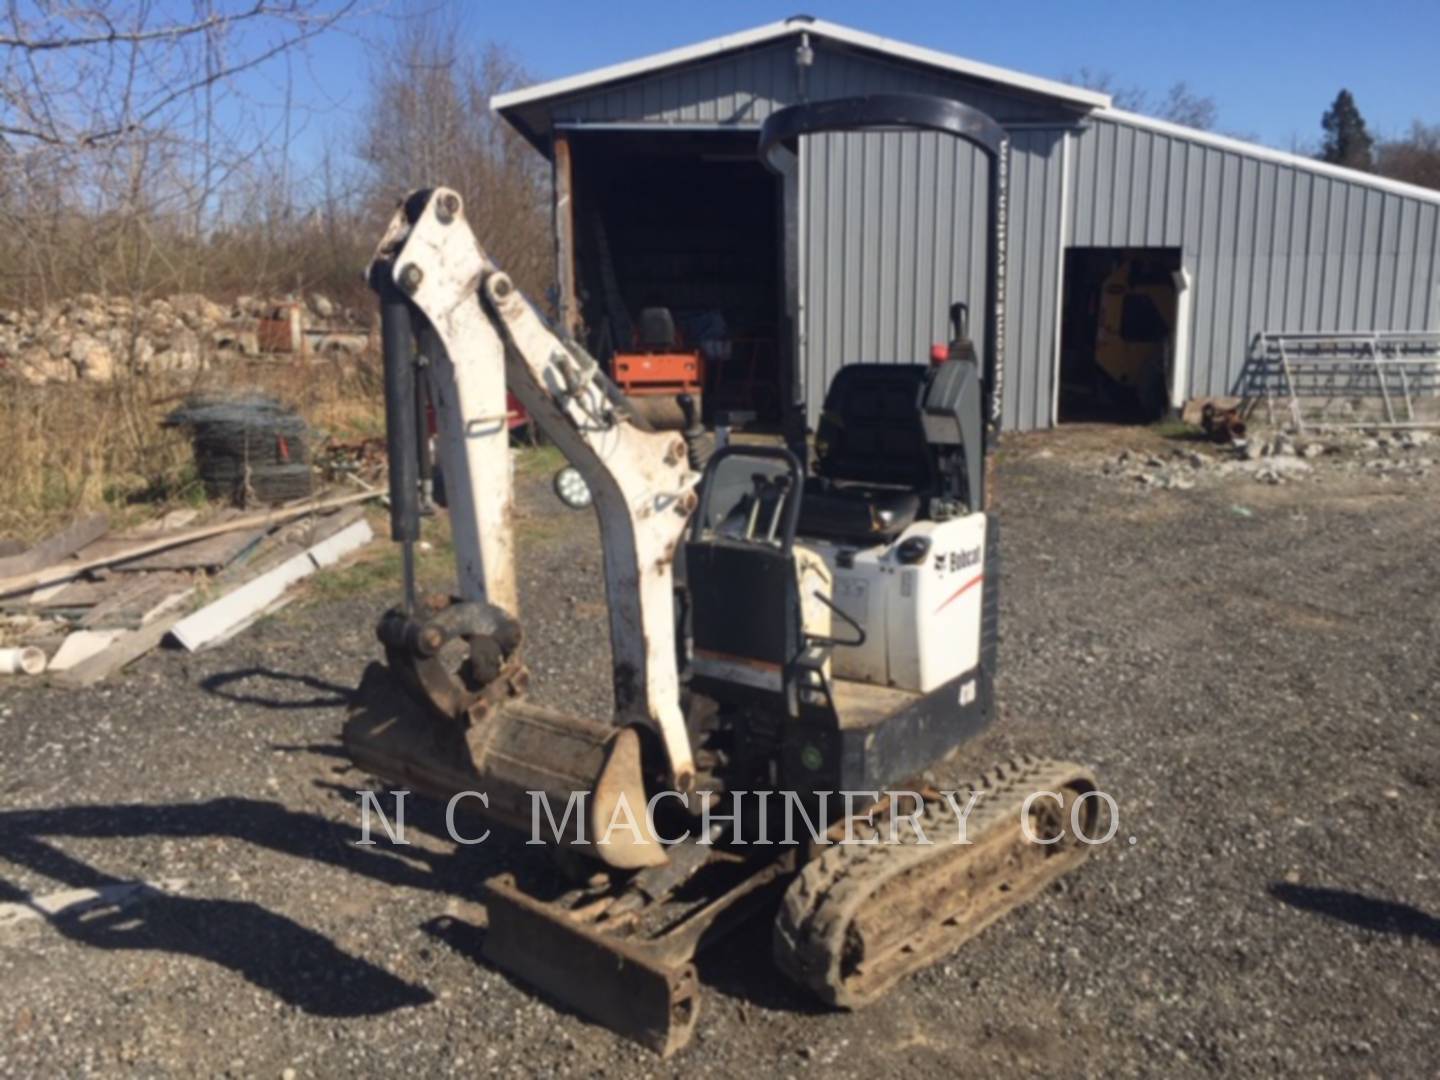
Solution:
M 700 986 L 688 960 L 586 927 L 514 887 L 485 886 L 484 956 L 582 1017 L 668 1057 L 690 1041 Z

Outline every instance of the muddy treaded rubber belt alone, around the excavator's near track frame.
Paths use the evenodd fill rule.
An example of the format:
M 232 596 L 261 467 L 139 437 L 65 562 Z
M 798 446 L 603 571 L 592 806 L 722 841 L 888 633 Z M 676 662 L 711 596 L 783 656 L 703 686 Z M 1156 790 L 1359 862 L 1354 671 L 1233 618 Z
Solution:
M 953 860 L 950 873 L 955 873 L 965 864 L 963 857 L 956 858 L 956 854 L 963 855 L 975 851 L 981 838 L 992 827 L 1007 822 L 1018 827 L 1020 809 L 1025 796 L 1035 791 L 1058 791 L 1064 786 L 1087 789 L 1094 786 L 1094 779 L 1089 769 L 1073 762 L 1017 757 L 994 766 L 968 788 L 956 789 L 958 792 L 984 792 L 966 821 L 966 837 L 972 841 L 968 845 L 943 842 L 920 845 L 916 842 L 914 824 L 907 818 L 900 818 L 899 842 L 896 844 L 841 842 L 827 847 L 819 857 L 811 860 L 801 870 L 785 893 L 785 900 L 775 919 L 775 960 L 778 966 L 829 1005 L 858 1008 L 868 1004 L 906 975 L 939 959 L 936 949 L 914 949 L 914 962 L 894 973 L 883 985 L 873 986 L 858 995 L 847 988 L 841 975 L 842 952 L 851 923 L 864 910 L 870 896 L 909 870 L 920 868 L 924 873 L 926 861 Z M 927 804 L 920 816 L 920 827 L 932 840 L 939 835 L 955 835 L 956 825 L 958 815 L 943 799 Z M 860 841 L 870 835 L 884 840 L 888 829 L 888 818 L 878 818 L 876 827 L 857 825 L 854 835 Z M 1074 863 L 1083 861 L 1084 855 L 1089 854 L 1087 847 L 1079 847 L 1080 851 L 1073 857 Z M 937 868 L 945 871 L 943 867 Z M 1054 876 L 1058 877 L 1058 873 Z M 949 939 L 948 948 L 943 942 L 939 943 L 939 948 L 948 953 L 1028 899 L 1028 893 L 1024 890 L 1017 891 L 1020 897 L 1014 904 L 984 919 L 978 926 L 962 930 L 920 926 L 916 927 L 912 942 L 924 942 L 927 937 Z M 907 942 L 907 948 L 909 945 Z

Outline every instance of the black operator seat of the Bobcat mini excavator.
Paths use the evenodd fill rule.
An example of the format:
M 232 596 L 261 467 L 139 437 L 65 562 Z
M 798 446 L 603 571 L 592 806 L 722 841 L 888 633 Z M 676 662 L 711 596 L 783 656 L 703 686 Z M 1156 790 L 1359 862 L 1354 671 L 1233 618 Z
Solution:
M 815 435 L 798 533 L 888 543 L 914 523 L 936 487 L 924 436 L 924 364 L 851 364 L 831 380 Z

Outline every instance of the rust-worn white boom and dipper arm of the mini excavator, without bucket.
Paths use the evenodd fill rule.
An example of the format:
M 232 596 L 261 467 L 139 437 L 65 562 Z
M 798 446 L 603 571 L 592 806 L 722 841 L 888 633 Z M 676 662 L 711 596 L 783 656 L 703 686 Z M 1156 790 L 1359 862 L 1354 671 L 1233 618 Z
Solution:
M 550 330 L 475 239 L 459 194 L 449 189 L 418 192 L 400 204 L 376 249 L 370 284 L 382 310 L 392 534 L 406 564 L 405 602 L 380 631 L 390 667 L 451 720 L 467 711 L 474 719 L 477 703 L 492 704 L 491 684 L 501 674 L 510 678 L 508 693 L 517 693 L 508 389 L 595 495 L 613 724 L 658 734 L 670 785 L 690 791 L 694 765 L 680 704 L 672 580 L 698 481 L 685 439 L 648 429 L 596 361 Z M 459 583 L 458 602 L 439 615 L 419 611 L 413 583 L 425 384 Z M 441 645 L 455 636 L 475 638 L 469 665 L 441 671 Z M 477 649 L 488 649 L 490 662 Z

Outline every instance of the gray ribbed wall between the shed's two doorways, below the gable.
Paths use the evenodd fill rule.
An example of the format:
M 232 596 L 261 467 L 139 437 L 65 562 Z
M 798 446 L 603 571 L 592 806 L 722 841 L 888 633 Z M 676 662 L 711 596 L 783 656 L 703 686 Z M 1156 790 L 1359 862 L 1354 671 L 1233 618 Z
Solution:
M 1063 132 L 1011 137 L 1005 348 L 1007 428 L 1050 422 L 1057 325 Z M 913 132 L 805 144 L 804 359 L 811 409 L 847 363 L 924 363 L 971 305 L 984 347 L 985 156 Z

